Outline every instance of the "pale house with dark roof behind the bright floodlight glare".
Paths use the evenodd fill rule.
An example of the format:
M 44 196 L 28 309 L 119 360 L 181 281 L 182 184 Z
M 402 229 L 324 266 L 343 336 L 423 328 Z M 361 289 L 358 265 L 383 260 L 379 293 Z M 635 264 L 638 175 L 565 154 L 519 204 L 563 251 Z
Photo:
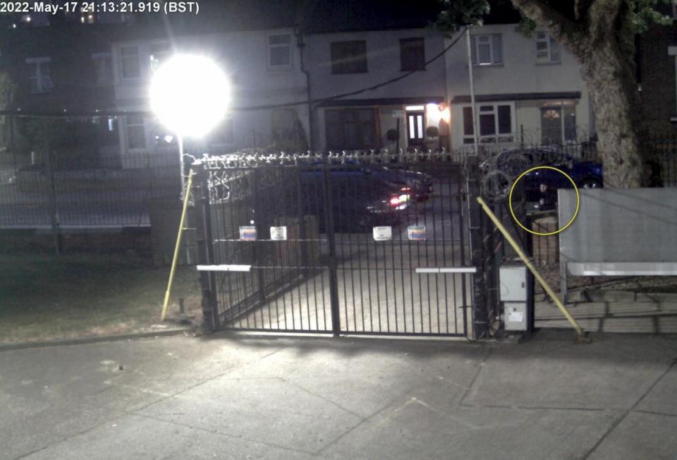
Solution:
M 171 33 L 162 28 L 142 30 L 113 45 L 114 103 L 117 110 L 130 112 L 120 133 L 123 164 L 133 166 L 139 156 L 148 154 L 154 164 L 177 158 L 172 154 L 177 150 L 176 133 L 168 133 L 153 116 L 143 115 L 150 111 L 153 69 L 174 53 L 210 56 L 230 80 L 228 116 L 204 139 L 185 139 L 186 153 L 307 148 L 307 104 L 297 104 L 308 97 L 307 83 L 293 28 L 293 8 L 276 14 L 269 11 L 269 20 L 252 16 L 256 19 L 252 21 L 243 20 L 238 11 L 236 22 L 224 18 L 216 28 L 202 25 Z

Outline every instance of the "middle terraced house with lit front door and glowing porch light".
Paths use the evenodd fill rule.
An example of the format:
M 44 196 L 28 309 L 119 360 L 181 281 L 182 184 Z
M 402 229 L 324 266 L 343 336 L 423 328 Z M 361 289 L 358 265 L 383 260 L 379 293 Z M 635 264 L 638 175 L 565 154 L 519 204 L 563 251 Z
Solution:
M 314 101 L 313 147 L 446 146 L 444 37 L 427 27 L 437 5 L 423 1 L 412 14 L 394 2 L 348 3 L 325 2 L 315 13 L 307 9 L 301 25 Z

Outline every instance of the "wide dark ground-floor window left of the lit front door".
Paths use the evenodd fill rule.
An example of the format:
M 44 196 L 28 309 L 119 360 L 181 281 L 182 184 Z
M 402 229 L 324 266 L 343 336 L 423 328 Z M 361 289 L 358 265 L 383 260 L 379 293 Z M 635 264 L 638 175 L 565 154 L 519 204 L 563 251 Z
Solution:
M 328 149 L 374 147 L 374 109 L 330 109 L 324 121 Z

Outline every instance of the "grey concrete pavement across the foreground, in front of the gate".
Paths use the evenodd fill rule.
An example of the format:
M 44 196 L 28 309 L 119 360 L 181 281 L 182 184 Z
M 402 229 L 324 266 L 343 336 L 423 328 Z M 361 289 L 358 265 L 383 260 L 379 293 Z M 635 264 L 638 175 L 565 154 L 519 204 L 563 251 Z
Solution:
M 0 459 L 674 459 L 677 337 L 0 352 Z

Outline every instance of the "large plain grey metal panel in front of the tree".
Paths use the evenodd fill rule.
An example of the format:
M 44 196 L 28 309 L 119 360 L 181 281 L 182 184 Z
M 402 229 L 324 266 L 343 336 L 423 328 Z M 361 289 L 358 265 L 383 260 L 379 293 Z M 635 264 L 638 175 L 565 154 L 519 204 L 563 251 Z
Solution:
M 559 190 L 559 220 L 568 222 L 574 190 Z M 566 262 L 677 262 L 677 189 L 580 190 L 580 210 L 560 234 Z

